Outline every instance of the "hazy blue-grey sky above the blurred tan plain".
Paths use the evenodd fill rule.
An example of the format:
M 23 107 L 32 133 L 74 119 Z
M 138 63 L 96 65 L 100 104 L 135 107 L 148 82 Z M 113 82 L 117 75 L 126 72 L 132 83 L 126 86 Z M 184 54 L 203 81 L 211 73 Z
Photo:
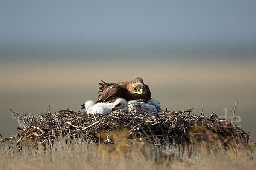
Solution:
M 255 57 L 255 8 L 255 0 L 1 0 L 0 57 Z

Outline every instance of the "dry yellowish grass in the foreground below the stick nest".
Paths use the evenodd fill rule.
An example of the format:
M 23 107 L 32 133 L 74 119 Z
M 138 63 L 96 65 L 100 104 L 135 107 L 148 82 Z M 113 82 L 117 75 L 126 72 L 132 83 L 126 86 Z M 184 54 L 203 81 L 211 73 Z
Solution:
M 144 142 L 128 144 L 125 139 L 107 146 L 85 143 L 81 139 L 72 144 L 58 139 L 45 151 L 28 146 L 23 146 L 23 152 L 19 153 L 10 152 L 7 144 L 3 144 L 0 169 L 251 170 L 256 167 L 256 152 L 241 148 L 211 151 L 203 145 L 195 150 L 166 144 L 158 149 Z

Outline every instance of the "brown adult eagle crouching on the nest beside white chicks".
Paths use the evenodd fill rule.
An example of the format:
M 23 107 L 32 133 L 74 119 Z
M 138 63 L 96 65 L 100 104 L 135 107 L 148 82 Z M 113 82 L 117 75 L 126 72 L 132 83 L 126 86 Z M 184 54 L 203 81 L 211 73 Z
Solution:
M 150 99 L 151 92 L 148 85 L 145 85 L 141 77 L 135 80 L 118 83 L 99 83 L 99 96 L 96 103 L 113 102 L 117 98 L 127 101 L 134 99 Z

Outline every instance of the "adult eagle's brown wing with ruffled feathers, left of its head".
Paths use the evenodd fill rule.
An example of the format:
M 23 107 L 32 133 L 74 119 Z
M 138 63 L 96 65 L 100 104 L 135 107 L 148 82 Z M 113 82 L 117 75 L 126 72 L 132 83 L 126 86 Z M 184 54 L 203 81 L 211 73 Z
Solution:
M 122 87 L 117 83 L 99 83 L 99 96 L 95 103 L 113 101 L 122 91 Z

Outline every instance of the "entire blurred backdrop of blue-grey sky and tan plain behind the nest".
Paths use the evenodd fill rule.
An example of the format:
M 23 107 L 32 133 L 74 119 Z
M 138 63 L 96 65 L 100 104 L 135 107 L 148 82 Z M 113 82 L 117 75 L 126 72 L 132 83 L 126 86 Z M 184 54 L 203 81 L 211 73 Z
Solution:
M 18 113 L 79 111 L 140 76 L 163 109 L 223 109 L 256 129 L 255 0 L 1 0 L 0 133 Z M 231 112 L 228 111 L 228 116 Z M 252 133 L 255 139 L 255 134 Z

